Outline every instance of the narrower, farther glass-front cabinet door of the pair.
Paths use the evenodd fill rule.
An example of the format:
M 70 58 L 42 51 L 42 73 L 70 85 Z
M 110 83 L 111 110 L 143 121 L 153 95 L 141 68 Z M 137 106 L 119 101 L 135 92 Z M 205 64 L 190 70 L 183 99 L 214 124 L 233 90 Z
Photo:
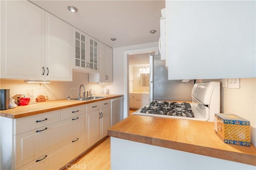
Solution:
M 90 69 L 98 70 L 98 42 L 90 38 Z

